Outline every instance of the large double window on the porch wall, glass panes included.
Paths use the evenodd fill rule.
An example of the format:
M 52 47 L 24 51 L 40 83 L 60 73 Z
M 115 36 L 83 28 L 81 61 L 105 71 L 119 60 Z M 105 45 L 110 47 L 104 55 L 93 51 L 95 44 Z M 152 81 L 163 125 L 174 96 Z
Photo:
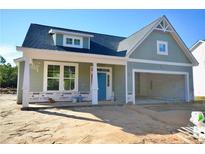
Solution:
M 45 62 L 44 91 L 77 91 L 77 70 L 78 64 Z

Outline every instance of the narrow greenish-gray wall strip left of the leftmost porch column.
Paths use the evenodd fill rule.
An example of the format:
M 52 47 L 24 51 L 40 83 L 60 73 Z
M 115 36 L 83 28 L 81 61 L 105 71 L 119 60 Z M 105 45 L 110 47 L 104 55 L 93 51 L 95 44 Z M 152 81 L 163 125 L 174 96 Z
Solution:
M 18 85 L 17 85 L 17 103 L 22 103 L 22 88 L 23 88 L 23 73 L 24 73 L 24 62 L 19 62 L 18 66 L 19 76 L 18 76 Z

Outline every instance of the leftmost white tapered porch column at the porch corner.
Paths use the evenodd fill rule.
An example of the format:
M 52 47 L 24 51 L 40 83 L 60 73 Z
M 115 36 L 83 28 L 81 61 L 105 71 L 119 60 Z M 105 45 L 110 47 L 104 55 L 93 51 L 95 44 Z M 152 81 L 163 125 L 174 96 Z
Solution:
M 30 58 L 25 57 L 24 74 L 23 74 L 23 108 L 29 107 L 29 90 L 30 90 Z

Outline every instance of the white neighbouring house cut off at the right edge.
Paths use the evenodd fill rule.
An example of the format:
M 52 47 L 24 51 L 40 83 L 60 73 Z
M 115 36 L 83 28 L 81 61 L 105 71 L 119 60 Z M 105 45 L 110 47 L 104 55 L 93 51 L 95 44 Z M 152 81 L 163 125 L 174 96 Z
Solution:
M 194 95 L 205 96 L 205 40 L 197 41 L 190 49 L 199 65 L 193 68 Z

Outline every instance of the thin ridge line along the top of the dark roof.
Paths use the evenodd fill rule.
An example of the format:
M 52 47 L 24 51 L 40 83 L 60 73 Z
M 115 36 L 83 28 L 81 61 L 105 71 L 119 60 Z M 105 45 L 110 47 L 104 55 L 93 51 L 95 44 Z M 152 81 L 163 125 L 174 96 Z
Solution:
M 110 34 L 104 34 L 104 33 L 96 33 L 96 32 L 90 32 L 90 31 L 82 31 L 82 30 L 77 30 L 77 29 L 68 29 L 68 28 L 63 28 L 63 27 L 57 27 L 57 26 L 51 26 L 51 25 L 44 25 L 44 24 L 38 24 L 38 23 L 31 23 L 31 25 L 39 25 L 39 26 L 44 26 L 44 27 L 51 27 L 51 28 L 56 28 L 56 29 L 64 29 L 68 31 L 78 31 L 81 33 L 89 33 L 89 34 L 99 34 L 99 35 L 106 35 L 106 36 L 112 36 L 112 37 L 119 37 L 119 38 L 126 38 L 125 36 L 117 36 L 117 35 L 110 35 Z

